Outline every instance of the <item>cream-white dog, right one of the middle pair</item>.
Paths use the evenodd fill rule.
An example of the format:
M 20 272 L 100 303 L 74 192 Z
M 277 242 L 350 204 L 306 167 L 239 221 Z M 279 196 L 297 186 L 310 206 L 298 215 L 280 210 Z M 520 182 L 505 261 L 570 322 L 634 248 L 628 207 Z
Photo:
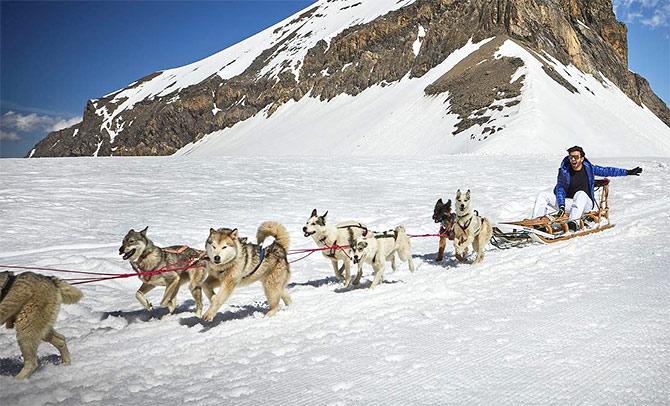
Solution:
M 375 278 L 370 288 L 374 288 L 382 281 L 386 261 L 391 261 L 391 268 L 395 271 L 395 254 L 401 261 L 407 262 L 409 270 L 414 272 L 414 262 L 412 262 L 412 244 L 409 236 L 405 232 L 405 227 L 398 226 L 395 230 L 379 232 L 369 232 L 365 236 L 356 238 L 352 244 L 354 263 L 363 262 L 372 265 L 375 272 Z

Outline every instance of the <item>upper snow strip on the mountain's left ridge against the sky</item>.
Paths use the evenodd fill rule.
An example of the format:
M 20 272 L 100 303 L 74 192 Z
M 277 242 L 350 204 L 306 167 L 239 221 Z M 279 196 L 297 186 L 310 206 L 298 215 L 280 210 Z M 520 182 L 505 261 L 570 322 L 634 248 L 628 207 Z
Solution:
M 282 43 L 279 52 L 273 54 L 261 71 L 261 75 L 276 77 L 290 66 L 296 79 L 299 67 L 307 51 L 320 40 L 330 42 L 345 29 L 373 21 L 379 16 L 414 3 L 416 0 L 320 0 L 307 10 L 316 9 L 309 18 L 298 17 L 302 10 L 285 20 L 247 38 L 229 48 L 205 59 L 178 68 L 161 71 L 151 80 L 133 82 L 125 89 L 112 92 L 117 104 L 114 111 L 103 116 L 103 127 L 111 133 L 113 120 L 126 110 L 130 110 L 142 100 L 152 99 L 178 92 L 188 86 L 198 84 L 217 74 L 222 79 L 230 79 L 242 74 L 266 49 Z M 359 3 L 359 4 L 357 4 Z M 118 122 L 117 122 L 118 125 Z

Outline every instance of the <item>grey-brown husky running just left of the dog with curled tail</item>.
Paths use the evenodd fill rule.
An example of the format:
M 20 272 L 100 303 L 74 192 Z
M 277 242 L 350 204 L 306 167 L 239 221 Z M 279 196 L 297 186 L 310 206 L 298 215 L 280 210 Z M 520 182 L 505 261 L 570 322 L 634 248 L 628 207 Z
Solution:
M 202 314 L 202 291 L 207 271 L 204 261 L 199 261 L 205 253 L 189 247 L 157 247 L 147 237 L 147 229 L 142 231 L 130 230 L 123 238 L 119 255 L 130 262 L 130 266 L 142 281 L 142 286 L 135 293 L 145 309 L 151 310 L 153 306 L 144 296 L 156 286 L 165 286 L 161 306 L 167 307 L 170 313 L 177 308 L 177 292 L 179 287 L 189 282 L 189 290 L 195 300 L 195 313 L 198 317 Z M 189 269 L 181 269 L 194 266 Z M 162 269 L 175 269 L 174 271 L 162 272 L 156 275 L 142 275 L 141 272 L 151 272 Z M 206 291 L 211 296 L 211 291 Z

